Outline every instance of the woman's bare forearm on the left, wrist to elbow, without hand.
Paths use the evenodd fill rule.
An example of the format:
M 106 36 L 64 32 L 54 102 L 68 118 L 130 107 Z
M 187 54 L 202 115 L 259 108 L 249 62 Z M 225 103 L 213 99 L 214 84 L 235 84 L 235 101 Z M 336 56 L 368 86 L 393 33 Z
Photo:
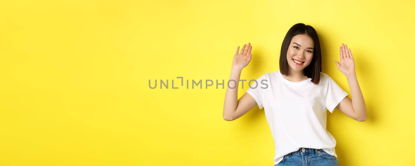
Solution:
M 229 86 L 227 85 L 226 94 L 225 94 L 225 103 L 223 105 L 223 118 L 231 119 L 232 114 L 238 106 L 238 83 L 239 78 L 241 77 L 242 69 L 237 67 L 232 67 L 231 75 L 229 76 Z M 234 87 L 233 89 L 229 87 Z

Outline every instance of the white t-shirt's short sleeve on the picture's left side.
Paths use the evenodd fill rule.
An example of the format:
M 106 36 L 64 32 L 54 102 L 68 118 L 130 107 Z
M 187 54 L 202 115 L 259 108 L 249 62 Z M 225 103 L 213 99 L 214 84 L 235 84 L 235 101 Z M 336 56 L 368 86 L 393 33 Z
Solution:
M 268 81 L 265 77 L 265 74 L 256 79 L 255 81 L 251 81 L 252 85 L 248 87 L 247 93 L 250 94 L 256 101 L 259 109 L 264 108 L 263 105 L 263 96 L 264 96 L 264 88 L 268 87 Z M 249 84 L 249 81 L 248 81 Z

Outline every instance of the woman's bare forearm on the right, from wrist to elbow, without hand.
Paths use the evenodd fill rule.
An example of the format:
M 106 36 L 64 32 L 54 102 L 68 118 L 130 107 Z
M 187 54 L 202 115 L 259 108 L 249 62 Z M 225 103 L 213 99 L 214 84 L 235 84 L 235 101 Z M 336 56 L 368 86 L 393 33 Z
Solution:
M 346 75 L 347 82 L 349 83 L 350 93 L 352 95 L 352 106 L 354 113 L 361 119 L 366 120 L 366 104 L 363 99 L 363 94 L 357 82 L 356 73 Z

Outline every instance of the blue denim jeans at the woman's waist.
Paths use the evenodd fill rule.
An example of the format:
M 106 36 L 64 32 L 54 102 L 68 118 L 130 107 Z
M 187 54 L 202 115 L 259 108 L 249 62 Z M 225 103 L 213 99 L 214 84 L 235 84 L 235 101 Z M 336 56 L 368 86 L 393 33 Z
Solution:
M 337 157 L 322 149 L 300 148 L 298 151 L 286 154 L 283 160 L 274 166 L 339 166 L 339 161 Z

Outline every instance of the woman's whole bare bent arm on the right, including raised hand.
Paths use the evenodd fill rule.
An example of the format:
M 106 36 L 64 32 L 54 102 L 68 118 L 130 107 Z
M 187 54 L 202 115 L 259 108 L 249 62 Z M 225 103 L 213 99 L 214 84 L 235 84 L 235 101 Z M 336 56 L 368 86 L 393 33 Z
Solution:
M 340 72 L 346 76 L 353 99 L 352 101 L 349 97 L 345 97 L 336 108 L 354 120 L 365 121 L 367 118 L 366 104 L 357 82 L 352 51 L 347 48 L 347 45 L 342 44 L 340 47 L 340 63 L 337 61 L 334 61 L 334 63 L 336 63 Z

